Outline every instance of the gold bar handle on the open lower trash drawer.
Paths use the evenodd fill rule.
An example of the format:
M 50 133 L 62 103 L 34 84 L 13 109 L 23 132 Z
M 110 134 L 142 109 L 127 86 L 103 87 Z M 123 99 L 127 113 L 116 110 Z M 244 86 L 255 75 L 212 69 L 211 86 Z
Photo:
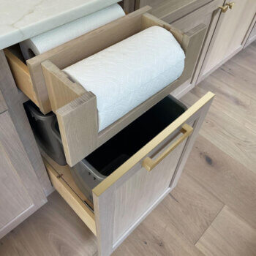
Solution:
M 157 157 L 157 159 L 153 160 L 150 157 L 146 157 L 143 160 L 142 166 L 146 168 L 148 172 L 150 172 L 155 166 L 159 164 L 159 162 L 162 161 L 162 159 L 167 157 L 167 155 L 170 154 L 170 152 L 173 151 L 174 148 L 176 148 L 183 140 L 188 138 L 189 135 L 192 134 L 192 132 L 193 132 L 193 127 L 191 127 L 188 124 L 184 124 L 181 128 L 181 133 L 183 133 L 183 135 L 180 138 L 178 138 L 178 140 L 176 140 L 172 145 L 170 145 L 170 147 L 167 148 L 165 152 L 163 152 L 159 157 Z

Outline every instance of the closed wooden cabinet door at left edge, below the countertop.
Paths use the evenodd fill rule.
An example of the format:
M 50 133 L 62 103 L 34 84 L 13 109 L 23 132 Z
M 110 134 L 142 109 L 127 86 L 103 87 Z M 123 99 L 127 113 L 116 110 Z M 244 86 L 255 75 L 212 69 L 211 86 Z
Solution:
M 8 111 L 0 115 L 0 238 L 46 203 Z

